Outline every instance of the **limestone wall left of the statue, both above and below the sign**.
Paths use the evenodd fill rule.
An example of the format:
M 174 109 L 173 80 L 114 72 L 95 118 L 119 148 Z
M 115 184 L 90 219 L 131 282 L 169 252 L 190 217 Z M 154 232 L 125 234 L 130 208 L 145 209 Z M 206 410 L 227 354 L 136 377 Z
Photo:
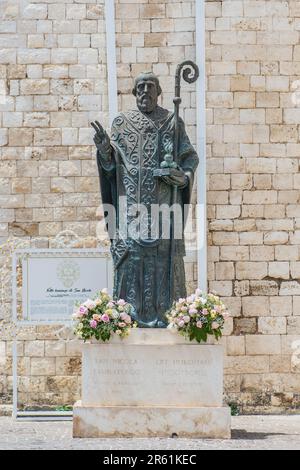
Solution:
M 101 0 L 0 2 L 0 403 L 12 398 L 12 247 L 55 247 L 65 230 L 76 247 L 96 246 L 90 121 L 107 126 L 105 44 Z M 42 326 L 18 333 L 20 405 L 78 398 L 78 344 L 60 336 Z

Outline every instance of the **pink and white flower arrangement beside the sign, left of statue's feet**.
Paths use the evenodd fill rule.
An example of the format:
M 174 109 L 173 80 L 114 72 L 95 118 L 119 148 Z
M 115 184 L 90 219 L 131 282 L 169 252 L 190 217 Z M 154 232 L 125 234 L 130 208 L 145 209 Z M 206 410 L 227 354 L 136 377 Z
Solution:
M 77 322 L 74 333 L 84 341 L 93 337 L 108 341 L 114 333 L 125 338 L 136 327 L 131 312 L 130 304 L 123 299 L 113 300 L 107 289 L 103 289 L 95 299 L 77 306 L 73 314 Z

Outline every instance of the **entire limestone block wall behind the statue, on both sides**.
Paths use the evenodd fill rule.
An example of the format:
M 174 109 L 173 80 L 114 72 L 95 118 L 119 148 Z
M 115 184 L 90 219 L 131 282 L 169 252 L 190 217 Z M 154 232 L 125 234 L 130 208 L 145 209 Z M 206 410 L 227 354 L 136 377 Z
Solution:
M 0 237 L 52 246 L 72 230 L 95 246 L 99 188 L 91 119 L 108 125 L 104 2 L 1 2 Z M 172 108 L 174 72 L 195 59 L 194 1 L 119 0 L 119 108 L 134 105 L 132 78 L 152 69 Z M 233 315 L 226 399 L 244 412 L 299 407 L 300 1 L 206 2 L 208 278 Z M 196 140 L 196 94 L 182 116 Z M 195 194 L 194 194 L 195 201 Z M 2 249 L 3 264 L 7 251 Z M 189 289 L 196 265 L 188 259 Z M 0 318 L 10 318 L 2 289 Z M 3 322 L 2 322 L 3 326 Z M 11 400 L 11 343 L 0 338 L 0 402 Z M 55 329 L 22 332 L 20 398 L 72 403 L 78 345 Z M 294 353 L 294 360 L 292 354 Z

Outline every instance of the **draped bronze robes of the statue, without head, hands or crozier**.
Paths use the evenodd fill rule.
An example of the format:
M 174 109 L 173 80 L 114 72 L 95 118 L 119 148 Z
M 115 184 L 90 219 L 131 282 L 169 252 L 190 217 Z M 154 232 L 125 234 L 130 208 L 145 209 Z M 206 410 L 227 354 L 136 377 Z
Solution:
M 134 317 L 145 327 L 163 326 L 164 314 L 172 301 L 186 295 L 183 234 L 173 241 L 173 259 L 170 237 L 162 238 L 161 233 L 150 235 L 151 206 L 172 205 L 172 186 L 154 177 L 153 170 L 160 168 L 166 148 L 174 142 L 174 114 L 157 107 L 155 115 L 151 120 L 138 110 L 120 113 L 112 124 L 110 155 L 97 152 L 102 203 L 104 208 L 106 204 L 114 206 L 117 219 L 116 230 L 114 224 L 107 225 L 114 262 L 114 298 L 131 303 Z M 181 119 L 177 163 L 188 176 L 185 187 L 177 189 L 176 202 L 183 211 L 190 203 L 198 157 Z M 126 203 L 125 211 L 121 200 Z M 131 236 L 128 230 L 124 232 L 137 216 L 137 204 L 148 210 L 145 225 L 149 229 L 146 235 L 144 232 L 138 237 Z M 161 216 L 159 219 L 161 229 Z M 170 262 L 174 267 L 172 276 Z M 169 297 L 170 288 L 173 299 Z

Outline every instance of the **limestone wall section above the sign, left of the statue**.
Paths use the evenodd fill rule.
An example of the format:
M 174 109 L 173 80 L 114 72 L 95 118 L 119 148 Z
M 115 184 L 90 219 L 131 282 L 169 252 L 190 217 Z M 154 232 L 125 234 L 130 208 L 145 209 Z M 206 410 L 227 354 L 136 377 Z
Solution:
M 94 234 L 89 121 L 106 119 L 103 2 L 5 0 L 0 14 L 0 236 Z

